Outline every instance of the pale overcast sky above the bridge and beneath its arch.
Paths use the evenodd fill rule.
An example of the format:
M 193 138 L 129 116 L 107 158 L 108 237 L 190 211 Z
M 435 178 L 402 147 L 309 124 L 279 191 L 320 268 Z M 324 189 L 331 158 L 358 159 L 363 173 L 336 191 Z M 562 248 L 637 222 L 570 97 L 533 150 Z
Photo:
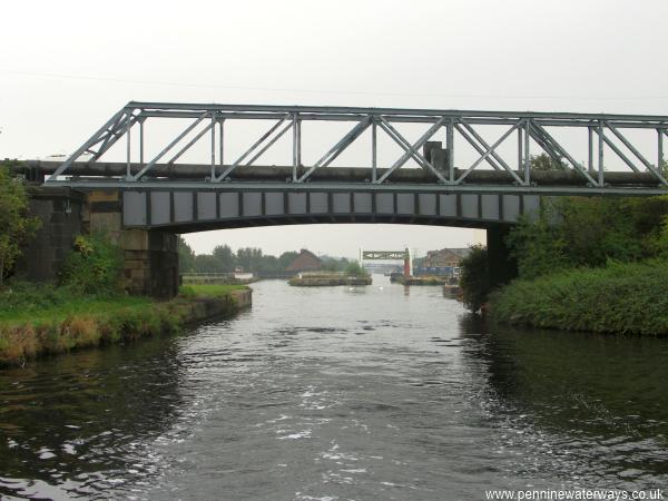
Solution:
M 4 2 L 0 157 L 76 149 L 129 100 L 668 115 L 666 0 Z M 268 253 L 465 246 L 470 229 L 187 236 Z

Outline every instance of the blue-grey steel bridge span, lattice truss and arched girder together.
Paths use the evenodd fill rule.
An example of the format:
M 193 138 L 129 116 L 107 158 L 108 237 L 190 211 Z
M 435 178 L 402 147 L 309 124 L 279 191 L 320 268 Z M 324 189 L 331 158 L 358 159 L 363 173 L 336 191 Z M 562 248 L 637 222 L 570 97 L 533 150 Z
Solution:
M 166 118 L 184 119 L 184 129 L 145 159 L 148 125 Z M 227 128 L 239 120 L 265 120 L 268 127 L 242 155 L 226 161 Z M 303 165 L 304 121 L 343 121 L 351 127 L 317 161 Z M 139 135 L 131 140 L 137 124 Z M 397 129 L 401 124 L 422 124 L 425 130 L 410 141 Z M 478 129 L 489 125 L 502 128 L 490 143 Z M 558 128 L 584 132 L 587 165 L 558 140 Z M 656 156 L 648 156 L 625 135 L 629 129 L 656 130 Z M 291 130 L 292 165 L 256 165 Z M 432 140 L 440 130 L 445 130 L 444 147 Z M 369 167 L 333 167 L 364 134 L 371 135 Z M 379 165 L 381 134 L 402 150 L 386 165 Z M 517 158 L 503 158 L 500 146 L 515 134 Z M 49 174 L 47 185 L 122 191 L 126 227 L 194 232 L 340 222 L 485 227 L 517 222 L 540 205 L 540 196 L 668 194 L 665 135 L 668 116 L 132 101 L 65 161 L 29 163 L 29 167 Z M 125 161 L 108 161 L 105 154 L 122 137 Z M 206 137 L 210 163 L 177 161 Z M 455 138 L 478 153 L 470 165 L 454 165 Z M 605 157 L 605 146 L 613 156 Z M 531 154 L 541 150 L 563 170 L 534 170 Z M 418 168 L 406 167 L 409 160 Z

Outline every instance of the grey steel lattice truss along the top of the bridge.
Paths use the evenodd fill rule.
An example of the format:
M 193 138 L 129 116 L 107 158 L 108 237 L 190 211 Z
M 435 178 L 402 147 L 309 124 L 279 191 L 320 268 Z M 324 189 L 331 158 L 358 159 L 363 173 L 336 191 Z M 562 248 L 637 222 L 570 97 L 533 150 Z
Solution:
M 167 141 L 159 153 L 145 158 L 145 128 L 147 124 L 159 119 L 184 119 L 187 126 Z M 264 120 L 268 127 L 248 148 L 232 163 L 225 163 L 226 129 L 238 120 Z M 344 121 L 352 127 L 338 138 L 313 165 L 302 164 L 302 122 L 310 120 Z M 410 141 L 402 135 L 397 124 L 423 124 L 429 128 L 422 136 Z M 488 143 L 479 126 L 503 126 L 504 131 L 492 143 Z M 130 131 L 139 128 L 138 140 L 132 140 Z M 574 159 L 567 146 L 559 141 L 552 128 L 577 128 L 587 132 L 588 161 L 583 165 Z M 603 115 L 568 112 L 514 112 L 514 111 L 466 111 L 394 108 L 350 108 L 350 107 L 305 107 L 305 106 L 243 106 L 243 105 L 195 105 L 131 101 L 116 112 L 69 158 L 60 164 L 47 179 L 53 185 L 77 185 L 90 187 L 127 187 L 136 189 L 165 187 L 169 189 L 248 189 L 258 184 L 236 177 L 239 170 L 256 165 L 257 160 L 286 134 L 292 135 L 291 175 L 278 183 L 265 183 L 262 189 L 328 189 L 332 181 L 315 180 L 318 169 L 326 169 L 346 148 L 371 130 L 371 167 L 362 183 L 348 183 L 346 189 L 440 193 L 533 193 L 533 194 L 636 194 L 656 195 L 668 193 L 667 173 L 664 160 L 664 139 L 668 136 L 668 117 L 645 115 Z M 445 129 L 446 148 L 442 150 L 443 161 L 438 164 L 434 157 L 421 151 L 430 139 L 441 129 Z M 650 161 L 639 145 L 629 139 L 629 129 L 651 129 L 656 131 L 656 159 Z M 385 134 L 402 150 L 401 156 L 391 165 L 379 166 L 379 134 Z M 511 165 L 499 153 L 499 147 L 517 136 L 517 165 Z M 454 150 L 458 140 L 463 139 L 479 157 L 466 168 L 455 168 Z M 210 164 L 206 174 L 198 169 L 187 181 L 171 179 L 169 169 L 178 159 L 204 137 L 210 144 Z M 126 141 L 125 171 L 105 178 L 77 177 L 77 169 L 95 166 L 119 140 Z M 558 161 L 574 175 L 578 183 L 562 186 L 559 183 L 537 185 L 531 168 L 531 145 L 540 147 L 551 159 Z M 629 174 L 642 177 L 642 183 L 611 184 L 606 171 L 606 146 L 611 150 Z M 137 151 L 138 149 L 138 151 Z M 81 160 L 81 158 L 84 160 Z M 139 161 L 132 161 L 139 158 Z M 412 159 L 425 174 L 426 181 L 394 183 L 393 175 Z M 469 183 L 474 171 L 482 165 L 489 165 L 497 175 L 493 185 Z M 86 169 L 84 169 L 86 170 Z M 167 174 L 165 174 L 167 171 Z M 615 173 L 618 174 L 618 173 Z M 63 179 L 63 176 L 73 176 Z M 499 181 L 500 179 L 500 181 Z M 475 184 L 473 184 L 475 183 Z M 361 186 L 360 186 L 361 185 Z M 287 188 L 286 188 L 287 187 Z M 334 186 L 335 187 L 335 186 Z

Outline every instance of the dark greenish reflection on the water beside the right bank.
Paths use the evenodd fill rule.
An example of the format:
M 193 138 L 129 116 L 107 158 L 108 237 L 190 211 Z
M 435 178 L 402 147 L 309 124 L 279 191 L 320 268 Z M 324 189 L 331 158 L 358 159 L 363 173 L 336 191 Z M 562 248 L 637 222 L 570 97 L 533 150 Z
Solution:
M 499 401 L 568 459 L 562 478 L 629 490 L 668 479 L 668 343 L 462 321 Z M 532 435 L 533 438 L 533 435 Z M 540 462 L 531 471 L 540 471 Z

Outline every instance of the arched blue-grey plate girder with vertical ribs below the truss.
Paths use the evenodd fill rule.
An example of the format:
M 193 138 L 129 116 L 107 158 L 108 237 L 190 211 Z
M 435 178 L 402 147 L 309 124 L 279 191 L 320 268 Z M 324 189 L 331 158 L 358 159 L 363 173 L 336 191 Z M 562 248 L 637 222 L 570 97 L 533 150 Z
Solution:
M 122 224 L 178 233 L 310 223 L 484 228 L 513 224 L 539 207 L 534 195 L 125 190 Z

